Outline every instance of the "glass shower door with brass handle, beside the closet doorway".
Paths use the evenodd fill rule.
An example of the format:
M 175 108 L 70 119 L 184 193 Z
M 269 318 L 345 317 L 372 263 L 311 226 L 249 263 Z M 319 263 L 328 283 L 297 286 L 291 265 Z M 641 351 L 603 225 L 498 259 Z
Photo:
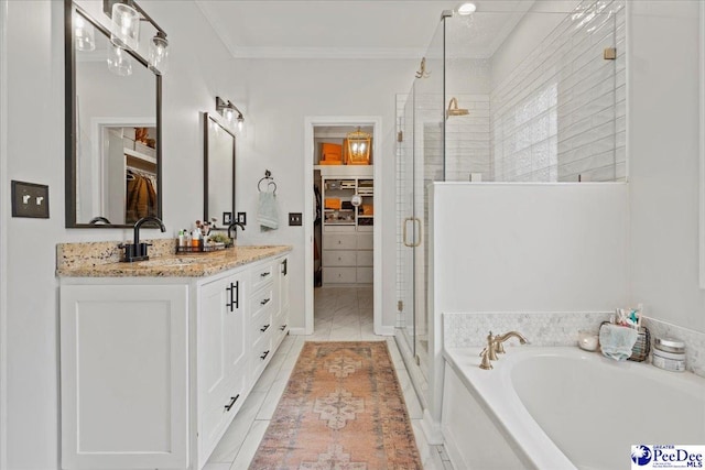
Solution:
M 442 22 L 403 107 L 398 106 L 398 326 L 424 382 L 429 364 L 427 187 L 444 178 L 443 37 Z M 424 386 L 416 384 L 417 391 Z

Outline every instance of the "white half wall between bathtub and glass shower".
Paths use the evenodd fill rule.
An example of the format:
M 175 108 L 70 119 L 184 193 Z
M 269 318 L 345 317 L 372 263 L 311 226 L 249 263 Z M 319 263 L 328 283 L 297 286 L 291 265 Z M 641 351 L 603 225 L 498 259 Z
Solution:
M 443 313 L 608 311 L 628 300 L 621 183 L 435 183 L 430 418 L 440 423 Z

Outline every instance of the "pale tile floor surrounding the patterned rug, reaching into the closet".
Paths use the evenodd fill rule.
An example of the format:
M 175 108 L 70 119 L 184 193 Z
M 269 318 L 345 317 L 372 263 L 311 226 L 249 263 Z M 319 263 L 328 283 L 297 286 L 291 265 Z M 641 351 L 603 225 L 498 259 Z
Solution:
M 214 450 L 205 470 L 246 470 L 284 392 L 304 341 L 387 341 L 404 393 L 424 470 L 452 470 L 443 446 L 431 446 L 421 430 L 422 409 L 394 339 L 377 336 L 372 321 L 371 287 L 315 289 L 315 331 L 288 336 L 242 408 Z

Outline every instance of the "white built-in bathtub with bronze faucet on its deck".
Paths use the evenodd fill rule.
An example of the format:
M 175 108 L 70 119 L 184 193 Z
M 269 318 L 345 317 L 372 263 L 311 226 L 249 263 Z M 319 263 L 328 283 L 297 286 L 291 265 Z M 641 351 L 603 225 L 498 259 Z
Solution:
M 442 429 L 456 469 L 630 468 L 631 445 L 705 445 L 705 379 L 577 347 L 511 347 L 494 370 L 448 349 Z

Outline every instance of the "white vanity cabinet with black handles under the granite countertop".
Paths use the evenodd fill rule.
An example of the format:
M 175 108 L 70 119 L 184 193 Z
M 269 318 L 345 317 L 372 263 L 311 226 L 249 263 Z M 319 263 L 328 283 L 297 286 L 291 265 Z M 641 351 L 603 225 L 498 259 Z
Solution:
M 202 469 L 289 332 L 288 267 L 62 278 L 62 468 Z

